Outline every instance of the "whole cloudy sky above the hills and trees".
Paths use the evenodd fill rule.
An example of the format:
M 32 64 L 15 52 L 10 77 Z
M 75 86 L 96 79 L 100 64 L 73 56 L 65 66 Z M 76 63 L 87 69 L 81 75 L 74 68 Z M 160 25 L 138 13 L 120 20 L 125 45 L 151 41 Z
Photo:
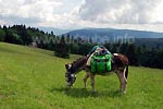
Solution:
M 0 0 L 0 25 L 163 32 L 163 0 Z

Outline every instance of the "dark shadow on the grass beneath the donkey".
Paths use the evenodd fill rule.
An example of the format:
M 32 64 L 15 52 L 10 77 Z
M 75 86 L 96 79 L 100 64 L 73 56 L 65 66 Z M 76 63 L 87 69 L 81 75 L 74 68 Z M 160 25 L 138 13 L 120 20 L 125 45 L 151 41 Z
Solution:
M 100 90 L 100 92 L 91 92 L 85 88 L 68 88 L 68 87 L 61 87 L 61 88 L 53 88 L 51 92 L 59 92 L 65 94 L 67 96 L 74 98 L 87 98 L 87 97 L 121 97 L 122 94 L 118 90 L 111 92 L 111 90 Z

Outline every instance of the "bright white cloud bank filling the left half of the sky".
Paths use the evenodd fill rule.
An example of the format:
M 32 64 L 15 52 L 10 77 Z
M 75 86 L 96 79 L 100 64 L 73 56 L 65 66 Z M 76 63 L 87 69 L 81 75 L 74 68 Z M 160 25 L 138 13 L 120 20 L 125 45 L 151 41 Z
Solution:
M 73 4 L 71 3 L 74 2 Z M 0 0 L 0 25 L 77 27 L 76 0 Z M 70 9 L 68 9 L 70 8 Z

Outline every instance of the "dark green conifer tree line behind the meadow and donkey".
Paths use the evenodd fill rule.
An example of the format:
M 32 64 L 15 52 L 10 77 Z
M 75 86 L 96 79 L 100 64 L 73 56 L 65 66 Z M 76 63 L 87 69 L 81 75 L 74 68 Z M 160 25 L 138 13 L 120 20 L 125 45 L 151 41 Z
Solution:
M 54 51 L 57 57 L 70 58 L 70 53 L 87 56 L 96 45 L 103 45 L 112 53 L 123 53 L 129 59 L 130 65 L 163 69 L 163 49 L 155 47 L 147 48 L 128 43 L 92 43 L 90 39 L 83 39 L 70 35 L 55 36 L 53 32 L 45 33 L 36 27 L 25 25 L 0 26 L 0 41 L 33 46 Z

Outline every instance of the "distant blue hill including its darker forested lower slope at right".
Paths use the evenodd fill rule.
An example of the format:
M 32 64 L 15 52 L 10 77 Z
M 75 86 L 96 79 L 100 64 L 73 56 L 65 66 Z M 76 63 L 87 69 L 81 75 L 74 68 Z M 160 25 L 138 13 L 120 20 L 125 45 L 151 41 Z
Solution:
M 118 39 L 131 39 L 136 46 L 146 45 L 147 47 L 160 46 L 163 48 L 163 33 L 159 32 L 147 32 L 147 31 L 135 31 L 135 29 L 115 29 L 115 28 L 83 28 L 68 32 L 64 35 L 70 34 L 74 38 L 85 38 L 93 43 L 117 43 Z M 127 40 L 127 41 L 128 41 Z M 124 40 L 123 40 L 124 43 Z

